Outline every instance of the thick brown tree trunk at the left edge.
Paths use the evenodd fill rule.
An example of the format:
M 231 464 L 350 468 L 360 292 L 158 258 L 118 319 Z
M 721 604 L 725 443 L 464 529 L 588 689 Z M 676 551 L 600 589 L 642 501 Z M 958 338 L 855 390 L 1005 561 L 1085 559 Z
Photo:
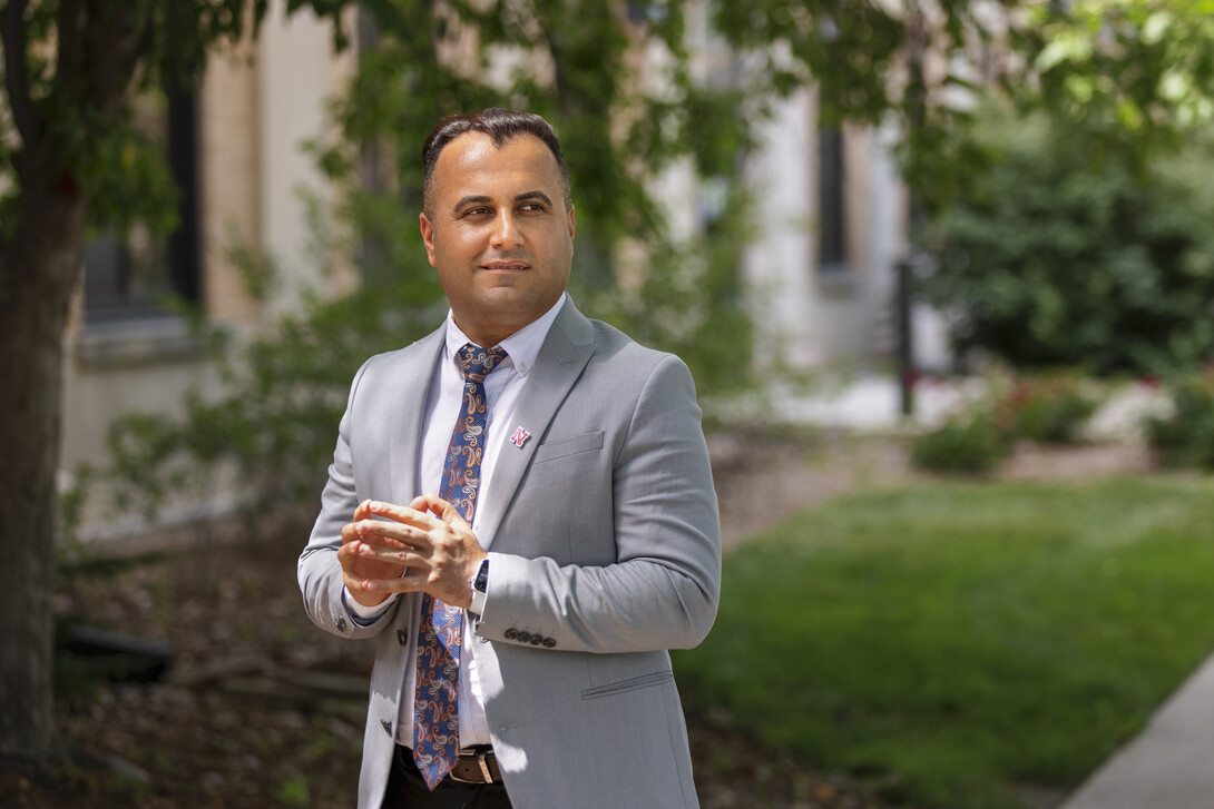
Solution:
M 67 172 L 23 183 L 0 244 L 0 753 L 55 744 L 51 574 L 62 346 L 84 199 Z

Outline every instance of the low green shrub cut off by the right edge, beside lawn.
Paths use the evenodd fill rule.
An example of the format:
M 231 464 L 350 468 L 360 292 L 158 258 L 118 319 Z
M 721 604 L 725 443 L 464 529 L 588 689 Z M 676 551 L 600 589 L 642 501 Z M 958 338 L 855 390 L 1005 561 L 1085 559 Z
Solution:
M 1178 377 L 1168 395 L 1170 412 L 1145 420 L 1147 443 L 1164 465 L 1214 469 L 1214 370 Z

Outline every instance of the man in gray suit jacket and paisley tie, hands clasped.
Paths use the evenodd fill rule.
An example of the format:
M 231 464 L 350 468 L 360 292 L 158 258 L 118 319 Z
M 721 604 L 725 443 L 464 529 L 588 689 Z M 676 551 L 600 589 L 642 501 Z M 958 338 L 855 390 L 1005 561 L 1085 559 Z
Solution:
M 715 619 L 720 528 L 691 375 L 568 300 L 544 119 L 447 118 L 422 158 L 450 313 L 358 371 L 299 562 L 318 626 L 378 639 L 358 805 L 694 807 L 666 650 Z

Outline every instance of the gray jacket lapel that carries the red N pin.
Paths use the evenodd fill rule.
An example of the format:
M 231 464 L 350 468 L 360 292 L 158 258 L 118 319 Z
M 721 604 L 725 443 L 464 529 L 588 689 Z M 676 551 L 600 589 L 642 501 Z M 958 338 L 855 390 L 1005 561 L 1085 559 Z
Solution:
M 498 455 L 498 463 L 493 468 L 493 485 L 477 520 L 477 539 L 486 549 L 493 543 L 498 526 L 514 502 L 518 484 L 522 483 L 535 448 L 548 432 L 557 408 L 582 376 L 594 352 L 594 326 L 574 308 L 572 301 L 566 301 L 535 358 L 535 368 L 518 398 L 512 421 L 501 425 L 494 438 L 509 441 L 516 427 L 531 433 L 531 439 L 523 441 L 521 448 L 503 446 Z

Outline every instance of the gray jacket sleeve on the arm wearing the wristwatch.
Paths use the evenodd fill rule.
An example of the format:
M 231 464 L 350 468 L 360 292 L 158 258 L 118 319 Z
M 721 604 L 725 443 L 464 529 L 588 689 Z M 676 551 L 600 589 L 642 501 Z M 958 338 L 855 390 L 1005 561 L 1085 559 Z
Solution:
M 537 651 L 626 653 L 690 648 L 708 634 L 720 597 L 720 522 L 681 360 L 666 354 L 653 366 L 622 434 L 611 491 L 584 494 L 612 498 L 614 563 L 562 565 L 490 551 L 480 636 Z M 575 525 L 577 497 L 566 508 Z

